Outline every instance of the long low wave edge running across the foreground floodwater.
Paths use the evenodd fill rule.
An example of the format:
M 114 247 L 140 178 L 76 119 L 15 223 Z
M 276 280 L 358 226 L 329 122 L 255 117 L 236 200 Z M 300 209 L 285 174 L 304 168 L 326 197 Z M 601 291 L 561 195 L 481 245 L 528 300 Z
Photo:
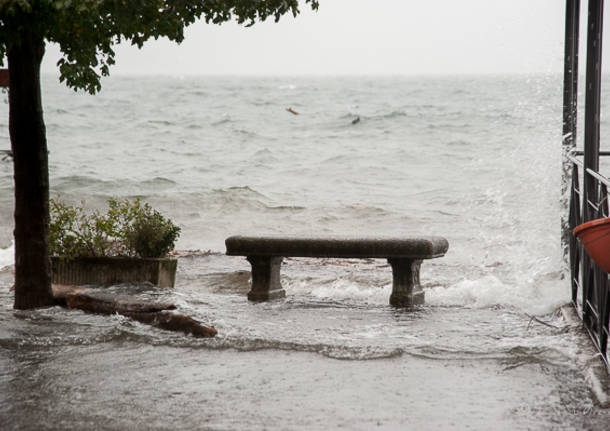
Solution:
M 82 313 L 74 313 L 68 317 L 65 324 L 78 323 L 83 319 Z M 60 324 L 61 318 L 55 316 L 54 324 Z M 76 320 L 76 321 L 73 321 Z M 62 333 L 57 335 L 30 335 L 26 337 L 3 336 L 0 337 L 0 348 L 8 351 L 35 350 L 40 347 L 74 347 L 74 346 L 103 346 L 112 343 L 133 343 L 144 346 L 168 346 L 173 348 L 188 348 L 201 350 L 234 350 L 237 352 L 287 351 L 300 353 L 313 353 L 329 359 L 344 361 L 375 361 L 393 359 L 403 356 L 412 356 L 433 361 L 446 360 L 485 360 L 494 359 L 502 361 L 506 369 L 513 369 L 531 363 L 561 364 L 569 357 L 570 352 L 561 345 L 528 345 L 523 338 L 517 338 L 506 345 L 490 346 L 449 346 L 431 344 L 426 340 L 408 337 L 411 345 L 383 346 L 375 344 L 349 345 L 344 342 L 307 342 L 266 339 L 261 337 L 248 337 L 247 335 L 223 335 L 222 332 L 213 339 L 199 339 L 184 336 L 180 333 L 170 333 L 148 325 L 131 321 L 122 316 L 97 317 L 95 324 L 87 317 L 89 323 L 81 322 L 76 333 Z M 72 322 L 70 322 L 72 321 Z M 101 326 L 100 326 L 101 324 Z M 92 325 L 92 327 L 89 327 Z M 93 328 L 97 328 L 94 330 Z M 8 335 L 8 334 L 6 334 Z M 438 342 L 438 341 L 437 341 Z

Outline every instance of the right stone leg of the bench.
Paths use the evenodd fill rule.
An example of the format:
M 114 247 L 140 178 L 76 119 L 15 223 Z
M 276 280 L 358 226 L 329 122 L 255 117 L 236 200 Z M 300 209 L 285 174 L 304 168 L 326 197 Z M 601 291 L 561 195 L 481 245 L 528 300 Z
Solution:
M 412 307 L 424 303 L 424 291 L 419 285 L 421 260 L 392 258 L 392 295 L 390 305 Z

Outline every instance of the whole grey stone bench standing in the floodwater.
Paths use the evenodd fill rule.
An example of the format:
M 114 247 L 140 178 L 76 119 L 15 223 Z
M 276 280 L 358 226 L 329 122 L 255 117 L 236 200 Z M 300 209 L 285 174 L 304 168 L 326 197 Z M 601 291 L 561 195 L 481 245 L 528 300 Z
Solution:
M 232 236 L 225 240 L 227 255 L 246 256 L 252 265 L 251 301 L 283 298 L 280 266 L 284 257 L 383 258 L 392 266 L 394 306 L 424 303 L 419 284 L 423 259 L 441 257 L 449 248 L 445 238 L 358 238 L 358 237 L 283 237 Z

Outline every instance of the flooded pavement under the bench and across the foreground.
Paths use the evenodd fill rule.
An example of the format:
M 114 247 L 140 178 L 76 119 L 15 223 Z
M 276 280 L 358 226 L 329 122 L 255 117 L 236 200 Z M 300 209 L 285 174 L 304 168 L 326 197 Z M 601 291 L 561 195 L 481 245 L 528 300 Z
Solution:
M 253 304 L 244 263 L 182 257 L 175 290 L 110 288 L 174 301 L 216 326 L 212 340 L 118 315 L 14 311 L 3 271 L 3 429 L 607 427 L 588 340 L 560 312 L 432 305 L 432 287 L 431 305 L 406 312 L 387 305 L 378 260 L 289 260 L 287 298 Z

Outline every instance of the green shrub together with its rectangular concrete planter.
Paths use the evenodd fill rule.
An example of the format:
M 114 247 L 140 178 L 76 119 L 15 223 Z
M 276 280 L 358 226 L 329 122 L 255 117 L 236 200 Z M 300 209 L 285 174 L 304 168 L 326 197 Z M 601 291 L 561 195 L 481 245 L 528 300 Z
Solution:
M 180 228 L 149 204 L 109 199 L 101 213 L 51 199 L 50 214 L 55 283 L 173 286 L 176 260 L 163 258 L 174 249 Z

